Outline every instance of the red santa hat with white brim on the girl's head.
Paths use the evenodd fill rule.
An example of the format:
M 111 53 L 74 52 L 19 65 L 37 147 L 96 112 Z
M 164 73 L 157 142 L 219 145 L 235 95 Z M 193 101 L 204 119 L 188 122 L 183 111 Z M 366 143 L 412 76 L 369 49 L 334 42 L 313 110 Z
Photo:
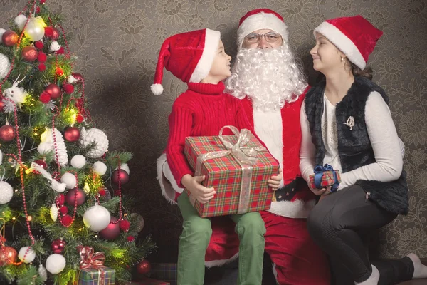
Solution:
M 322 33 L 349 61 L 364 69 L 369 54 L 374 51 L 376 41 L 381 38 L 383 32 L 364 17 L 357 15 L 324 21 L 313 33 L 315 36 L 316 33 Z

